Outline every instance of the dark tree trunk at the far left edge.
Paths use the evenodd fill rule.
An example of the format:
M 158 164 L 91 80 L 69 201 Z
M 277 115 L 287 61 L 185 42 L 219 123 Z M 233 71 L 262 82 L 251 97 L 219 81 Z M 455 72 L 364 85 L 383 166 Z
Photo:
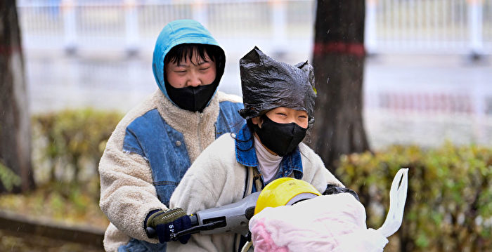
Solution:
M 31 126 L 15 0 L 0 1 L 0 161 L 20 176 L 13 192 L 34 187 Z M 0 192 L 6 188 L 0 183 Z

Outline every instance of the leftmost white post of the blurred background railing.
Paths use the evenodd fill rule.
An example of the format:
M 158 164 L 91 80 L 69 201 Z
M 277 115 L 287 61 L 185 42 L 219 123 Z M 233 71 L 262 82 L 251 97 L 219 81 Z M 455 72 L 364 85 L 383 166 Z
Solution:
M 63 0 L 63 32 L 65 37 L 65 51 L 73 54 L 77 51 L 77 16 L 75 13 L 75 0 Z

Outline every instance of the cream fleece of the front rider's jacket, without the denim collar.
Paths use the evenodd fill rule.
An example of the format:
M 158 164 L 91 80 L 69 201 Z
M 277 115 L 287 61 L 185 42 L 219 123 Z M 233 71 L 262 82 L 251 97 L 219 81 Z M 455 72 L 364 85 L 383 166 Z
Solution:
M 311 148 L 299 144 L 303 176 L 320 192 L 326 185 L 343 186 L 325 168 L 321 158 Z M 224 206 L 242 199 L 245 191 L 245 166 L 236 161 L 235 140 L 224 134 L 209 145 L 184 175 L 171 196 L 169 205 L 181 207 L 186 213 Z M 168 251 L 233 251 L 234 234 L 192 234 L 188 244 L 169 242 Z

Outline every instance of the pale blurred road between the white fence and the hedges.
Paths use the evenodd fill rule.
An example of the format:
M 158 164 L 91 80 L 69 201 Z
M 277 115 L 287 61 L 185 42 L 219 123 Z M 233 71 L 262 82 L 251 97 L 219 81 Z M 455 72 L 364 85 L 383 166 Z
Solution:
M 219 90 L 240 95 L 239 58 L 228 56 Z M 283 60 L 306 58 L 287 55 Z M 33 113 L 86 106 L 127 111 L 157 88 L 150 55 L 74 58 L 28 52 L 26 59 Z M 492 145 L 491 60 L 473 64 L 463 55 L 368 58 L 365 125 L 371 145 L 435 146 L 444 140 Z

